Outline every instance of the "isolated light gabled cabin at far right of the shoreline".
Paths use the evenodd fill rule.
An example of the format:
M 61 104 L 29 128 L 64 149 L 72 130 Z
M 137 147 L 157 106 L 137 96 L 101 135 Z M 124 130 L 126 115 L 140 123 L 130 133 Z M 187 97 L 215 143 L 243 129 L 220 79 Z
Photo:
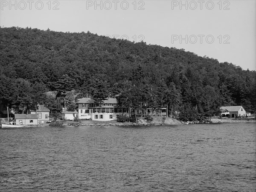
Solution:
M 221 117 L 236 118 L 246 116 L 246 111 L 244 110 L 244 107 L 241 105 L 221 107 L 221 111 Z

